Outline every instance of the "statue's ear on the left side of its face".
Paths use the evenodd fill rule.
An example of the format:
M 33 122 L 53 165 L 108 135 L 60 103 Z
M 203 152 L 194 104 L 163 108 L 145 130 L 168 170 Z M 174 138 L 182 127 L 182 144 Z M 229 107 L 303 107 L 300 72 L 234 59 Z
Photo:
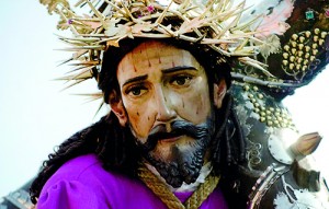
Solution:
M 121 100 L 121 96 L 117 95 L 117 93 L 115 91 L 112 91 L 110 93 L 109 103 L 110 103 L 112 112 L 117 117 L 120 125 L 123 127 L 126 126 L 127 114 L 126 114 L 125 107 L 123 105 L 123 102 Z

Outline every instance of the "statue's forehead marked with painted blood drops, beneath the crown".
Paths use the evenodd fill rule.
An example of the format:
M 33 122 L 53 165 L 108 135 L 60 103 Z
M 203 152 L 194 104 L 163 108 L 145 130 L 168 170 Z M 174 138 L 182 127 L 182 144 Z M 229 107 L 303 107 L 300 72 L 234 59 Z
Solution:
M 123 57 L 117 66 L 117 80 L 122 83 L 134 77 L 184 66 L 197 68 L 200 65 L 188 50 L 149 40 Z

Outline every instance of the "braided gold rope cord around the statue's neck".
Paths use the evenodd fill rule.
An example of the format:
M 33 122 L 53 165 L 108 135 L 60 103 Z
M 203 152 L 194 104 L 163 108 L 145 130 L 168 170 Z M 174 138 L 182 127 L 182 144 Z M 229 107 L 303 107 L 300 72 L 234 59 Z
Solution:
M 219 177 L 208 175 L 204 184 L 192 194 L 184 205 L 169 190 L 168 186 L 161 182 L 145 165 L 139 166 L 139 178 L 150 188 L 170 209 L 197 209 L 202 202 L 216 188 Z

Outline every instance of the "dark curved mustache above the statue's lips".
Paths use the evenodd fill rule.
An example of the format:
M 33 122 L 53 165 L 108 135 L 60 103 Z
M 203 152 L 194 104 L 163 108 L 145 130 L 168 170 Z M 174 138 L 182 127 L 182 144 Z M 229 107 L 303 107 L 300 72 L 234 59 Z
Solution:
M 157 125 L 150 130 L 150 133 L 145 143 L 138 142 L 138 146 L 144 151 L 149 152 L 154 150 L 159 140 L 174 138 L 179 136 L 188 136 L 195 140 L 204 139 L 209 136 L 209 127 L 207 123 L 194 125 L 185 120 L 174 120 L 170 124 L 171 131 L 167 131 L 164 124 Z

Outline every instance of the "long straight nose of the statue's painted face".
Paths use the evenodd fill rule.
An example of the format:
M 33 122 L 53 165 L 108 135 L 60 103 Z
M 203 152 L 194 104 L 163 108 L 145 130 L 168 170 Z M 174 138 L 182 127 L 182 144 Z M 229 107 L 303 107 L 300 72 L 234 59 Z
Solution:
M 155 97 L 156 97 L 156 104 L 158 109 L 156 119 L 158 121 L 166 123 L 175 118 L 177 113 L 173 108 L 170 93 L 163 91 L 161 86 L 157 88 L 155 93 L 156 93 Z

